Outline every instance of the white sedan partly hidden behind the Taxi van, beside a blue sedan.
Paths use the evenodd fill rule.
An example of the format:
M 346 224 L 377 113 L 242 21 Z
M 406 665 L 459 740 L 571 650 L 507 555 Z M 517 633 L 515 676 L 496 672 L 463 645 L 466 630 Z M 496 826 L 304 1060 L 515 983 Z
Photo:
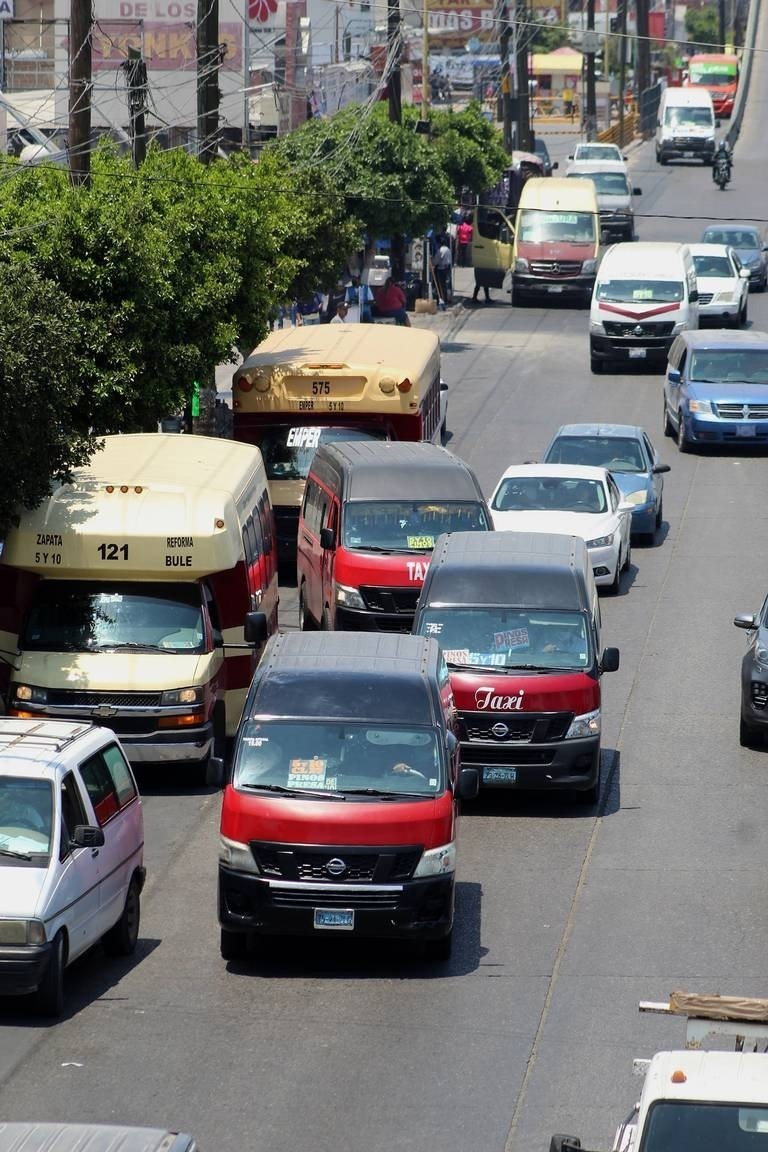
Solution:
M 491 498 L 496 531 L 580 536 L 595 584 L 618 592 L 630 567 L 632 506 L 610 472 L 580 464 L 512 464 Z

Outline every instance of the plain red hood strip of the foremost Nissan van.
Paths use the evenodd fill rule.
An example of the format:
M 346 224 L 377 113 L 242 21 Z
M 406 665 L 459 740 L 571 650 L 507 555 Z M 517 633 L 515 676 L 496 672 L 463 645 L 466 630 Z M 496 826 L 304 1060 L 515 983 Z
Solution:
M 246 795 L 229 785 L 221 834 L 239 843 L 438 848 L 454 839 L 454 799 L 450 793 L 420 801 L 296 799 Z

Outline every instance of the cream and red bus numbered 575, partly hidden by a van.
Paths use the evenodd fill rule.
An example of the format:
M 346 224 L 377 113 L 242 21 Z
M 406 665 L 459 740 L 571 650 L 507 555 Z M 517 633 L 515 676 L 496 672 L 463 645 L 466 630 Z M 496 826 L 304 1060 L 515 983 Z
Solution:
M 440 441 L 446 427 L 440 341 L 385 324 L 273 332 L 233 377 L 236 440 L 261 449 L 277 555 L 296 556 L 298 510 L 314 449 L 341 439 Z

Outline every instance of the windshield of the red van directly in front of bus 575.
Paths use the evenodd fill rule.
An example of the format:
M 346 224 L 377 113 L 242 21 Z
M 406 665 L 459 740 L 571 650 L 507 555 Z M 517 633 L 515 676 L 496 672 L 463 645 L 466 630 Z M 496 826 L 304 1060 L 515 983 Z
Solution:
M 351 500 L 344 505 L 345 548 L 432 552 L 441 532 L 485 532 L 486 510 L 459 500 Z

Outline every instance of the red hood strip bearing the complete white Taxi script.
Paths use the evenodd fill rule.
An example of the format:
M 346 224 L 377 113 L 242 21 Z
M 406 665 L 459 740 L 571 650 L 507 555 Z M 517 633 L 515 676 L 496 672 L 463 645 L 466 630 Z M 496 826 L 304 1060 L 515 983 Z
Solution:
M 600 707 L 600 683 L 584 672 L 508 673 L 493 668 L 450 673 L 459 712 L 572 712 Z

